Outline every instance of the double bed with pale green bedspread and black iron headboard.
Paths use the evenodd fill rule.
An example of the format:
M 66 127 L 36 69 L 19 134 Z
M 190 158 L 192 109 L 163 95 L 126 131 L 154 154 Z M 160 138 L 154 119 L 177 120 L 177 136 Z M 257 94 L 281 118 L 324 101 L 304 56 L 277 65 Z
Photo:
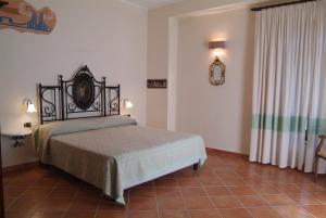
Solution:
M 80 75 L 90 79 L 78 85 Z M 71 80 L 60 79 L 59 86 L 39 85 L 42 125 L 33 138 L 41 163 L 93 184 L 125 205 L 125 189 L 187 166 L 198 167 L 206 159 L 200 136 L 141 127 L 120 115 L 120 86 L 108 88 L 104 80 L 96 85 L 88 67 Z M 90 103 L 80 99 L 78 103 L 76 87 L 84 89 L 79 94 L 91 97 Z

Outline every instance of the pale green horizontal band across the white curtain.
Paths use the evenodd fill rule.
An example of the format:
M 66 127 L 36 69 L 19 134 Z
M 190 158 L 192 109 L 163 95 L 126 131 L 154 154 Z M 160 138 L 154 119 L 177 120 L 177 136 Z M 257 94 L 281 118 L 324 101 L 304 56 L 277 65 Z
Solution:
M 253 115 L 252 129 L 264 129 L 284 132 L 304 132 L 308 117 L 303 116 L 276 116 L 268 114 Z M 309 132 L 314 134 L 326 133 L 326 118 L 310 119 Z

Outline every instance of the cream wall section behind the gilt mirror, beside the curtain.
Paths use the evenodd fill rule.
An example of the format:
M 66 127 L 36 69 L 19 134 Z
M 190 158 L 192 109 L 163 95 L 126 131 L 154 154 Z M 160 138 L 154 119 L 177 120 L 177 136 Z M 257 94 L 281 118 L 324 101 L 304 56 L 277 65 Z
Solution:
M 248 8 L 179 21 L 177 130 L 200 133 L 210 148 L 249 152 L 253 33 Z M 209 81 L 212 40 L 226 41 L 222 86 Z

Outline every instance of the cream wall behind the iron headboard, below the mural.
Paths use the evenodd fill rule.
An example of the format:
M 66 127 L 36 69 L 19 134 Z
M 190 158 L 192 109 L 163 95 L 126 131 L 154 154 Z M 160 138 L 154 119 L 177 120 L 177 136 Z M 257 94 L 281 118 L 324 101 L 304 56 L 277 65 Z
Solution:
M 87 64 L 97 78 L 121 84 L 122 97 L 134 103 L 131 113 L 146 123 L 147 10 L 120 0 L 33 0 L 50 7 L 57 26 L 49 36 L 0 30 L 0 121 L 3 129 L 37 123 L 37 115 L 21 111 L 24 98 L 37 103 L 36 84 L 55 85 L 58 75 L 70 78 Z M 27 144 L 12 149 L 2 139 L 3 165 L 34 161 Z

